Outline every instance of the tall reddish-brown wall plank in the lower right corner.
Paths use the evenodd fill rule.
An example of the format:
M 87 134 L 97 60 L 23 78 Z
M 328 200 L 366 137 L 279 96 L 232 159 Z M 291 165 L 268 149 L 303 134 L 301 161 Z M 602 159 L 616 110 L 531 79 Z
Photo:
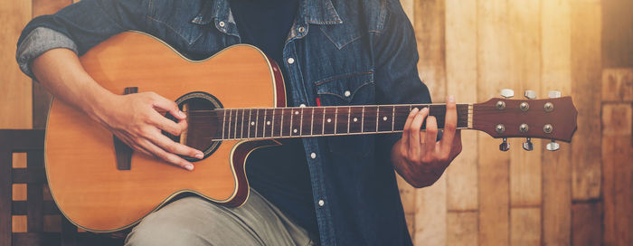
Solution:
M 602 168 L 604 197 L 604 244 L 631 245 L 633 235 L 633 156 L 630 103 L 602 106 Z

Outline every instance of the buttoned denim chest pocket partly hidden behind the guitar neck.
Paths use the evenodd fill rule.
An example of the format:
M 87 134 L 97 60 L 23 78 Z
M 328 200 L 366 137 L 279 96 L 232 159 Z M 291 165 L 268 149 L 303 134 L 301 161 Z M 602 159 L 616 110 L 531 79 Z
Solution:
M 373 71 L 345 73 L 317 80 L 316 96 L 322 106 L 374 105 L 375 85 Z M 359 158 L 373 155 L 373 135 L 346 135 L 327 137 L 330 152 L 335 158 L 356 163 Z

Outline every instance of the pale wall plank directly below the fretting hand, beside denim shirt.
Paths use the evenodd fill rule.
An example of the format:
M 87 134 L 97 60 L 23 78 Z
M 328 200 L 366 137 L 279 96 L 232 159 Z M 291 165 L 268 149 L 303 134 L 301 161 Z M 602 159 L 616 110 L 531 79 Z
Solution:
M 415 195 L 415 245 L 446 245 L 446 175 Z

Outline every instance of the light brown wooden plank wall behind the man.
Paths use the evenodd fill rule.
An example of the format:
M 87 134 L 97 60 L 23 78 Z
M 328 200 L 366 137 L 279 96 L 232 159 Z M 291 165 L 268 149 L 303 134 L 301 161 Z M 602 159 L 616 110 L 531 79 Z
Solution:
M 44 126 L 50 99 L 17 69 L 15 41 L 28 20 L 71 2 L 1 0 L 0 128 Z M 633 1 L 401 2 L 435 101 L 560 90 L 579 109 L 572 145 L 560 151 L 535 140 L 524 152 L 512 139 L 502 153 L 498 140 L 464 132 L 464 151 L 438 183 L 416 190 L 399 180 L 414 243 L 633 244 Z M 14 191 L 21 199 L 26 187 Z M 27 227 L 15 219 L 15 229 Z

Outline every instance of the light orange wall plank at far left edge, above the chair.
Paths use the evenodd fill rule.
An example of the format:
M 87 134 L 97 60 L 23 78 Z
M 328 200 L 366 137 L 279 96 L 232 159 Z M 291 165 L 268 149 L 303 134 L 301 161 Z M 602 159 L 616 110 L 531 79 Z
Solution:
M 0 128 L 31 128 L 31 82 L 15 62 L 15 41 L 31 20 L 31 1 L 0 3 Z

